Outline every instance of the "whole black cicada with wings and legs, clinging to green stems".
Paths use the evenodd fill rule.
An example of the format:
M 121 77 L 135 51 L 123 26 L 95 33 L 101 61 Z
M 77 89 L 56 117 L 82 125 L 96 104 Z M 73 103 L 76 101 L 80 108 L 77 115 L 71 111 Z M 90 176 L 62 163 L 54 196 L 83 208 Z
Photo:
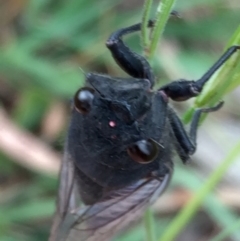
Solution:
M 122 40 L 140 28 L 117 30 L 106 42 L 132 78 L 89 73 L 75 94 L 51 241 L 105 241 L 135 220 L 168 185 L 172 152 L 184 163 L 195 152 L 201 113 L 222 106 L 197 110 L 188 134 L 168 99 L 197 96 L 239 46 L 229 48 L 199 80 L 180 79 L 155 91 L 149 63 Z

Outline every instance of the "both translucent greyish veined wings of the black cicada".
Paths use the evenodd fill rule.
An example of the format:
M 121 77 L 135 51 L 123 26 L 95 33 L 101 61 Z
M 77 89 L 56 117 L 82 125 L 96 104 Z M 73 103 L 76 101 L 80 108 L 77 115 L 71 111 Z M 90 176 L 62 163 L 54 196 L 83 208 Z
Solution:
M 154 202 L 171 178 L 143 179 L 109 192 L 101 202 L 79 206 L 74 168 L 64 158 L 60 174 L 58 207 L 51 230 L 50 241 L 107 241 L 115 233 L 137 220 Z

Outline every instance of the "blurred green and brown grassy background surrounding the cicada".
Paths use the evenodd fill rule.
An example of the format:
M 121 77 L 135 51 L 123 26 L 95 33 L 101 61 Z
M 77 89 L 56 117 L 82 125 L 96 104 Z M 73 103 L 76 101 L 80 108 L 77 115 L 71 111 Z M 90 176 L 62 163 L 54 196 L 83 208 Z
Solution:
M 178 0 L 174 9 L 181 18 L 169 20 L 152 61 L 158 85 L 198 79 L 239 28 L 237 0 Z M 137 0 L 0 1 L 0 240 L 47 240 L 70 99 L 84 83 L 83 71 L 126 76 L 104 44 L 115 29 L 141 21 L 142 12 Z M 142 51 L 138 35 L 128 44 Z M 221 111 L 201 126 L 191 163 L 176 159 L 173 181 L 153 208 L 159 240 L 210 173 L 233 159 L 176 240 L 240 240 L 239 79 Z M 184 116 L 192 101 L 173 105 Z M 116 240 L 143 240 L 142 225 Z

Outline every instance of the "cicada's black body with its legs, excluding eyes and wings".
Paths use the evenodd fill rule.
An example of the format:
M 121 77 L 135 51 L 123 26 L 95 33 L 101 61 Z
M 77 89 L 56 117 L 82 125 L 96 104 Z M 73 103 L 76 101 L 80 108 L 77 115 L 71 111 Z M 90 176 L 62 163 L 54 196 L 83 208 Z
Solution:
M 152 26 L 150 21 L 149 27 Z M 182 101 L 197 96 L 214 71 L 237 49 L 229 49 L 198 81 L 178 80 L 154 91 L 155 77 L 149 63 L 121 39 L 122 35 L 138 30 L 140 24 L 118 30 L 106 44 L 119 66 L 135 78 L 87 74 L 86 86 L 95 90 L 92 109 L 84 115 L 75 109 L 72 113 L 66 148 L 77 167 L 82 199 L 87 204 L 104 198 L 109 189 L 130 185 L 156 173 L 163 177 L 172 166 L 172 150 L 184 162 L 188 160 L 196 149 L 201 111 L 215 109 L 196 112 L 188 136 L 168 106 L 168 98 Z M 110 121 L 116 126 L 111 127 Z M 126 150 L 146 138 L 158 142 L 160 151 L 153 162 L 143 165 L 131 160 Z

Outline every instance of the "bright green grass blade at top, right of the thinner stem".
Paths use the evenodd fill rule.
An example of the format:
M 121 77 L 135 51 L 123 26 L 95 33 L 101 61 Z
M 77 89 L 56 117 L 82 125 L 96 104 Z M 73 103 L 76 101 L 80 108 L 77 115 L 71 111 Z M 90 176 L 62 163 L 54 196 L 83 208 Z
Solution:
M 174 3 L 175 0 L 161 0 L 158 5 L 155 27 L 153 29 L 152 40 L 149 46 L 149 59 L 153 58 L 160 36 L 164 31 Z

